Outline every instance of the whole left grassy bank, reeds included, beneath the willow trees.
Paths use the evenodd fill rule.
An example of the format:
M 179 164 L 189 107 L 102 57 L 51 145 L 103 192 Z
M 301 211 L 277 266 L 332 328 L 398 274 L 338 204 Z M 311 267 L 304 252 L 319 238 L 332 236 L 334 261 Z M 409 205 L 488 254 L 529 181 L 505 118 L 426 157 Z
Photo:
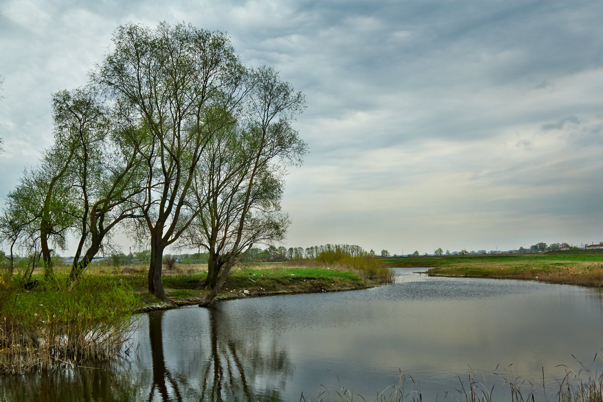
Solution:
M 35 272 L 26 290 L 19 274 L 0 276 L 0 374 L 85 365 L 112 359 L 130 334 L 133 312 L 198 303 L 209 292 L 201 284 L 206 266 L 166 271 L 168 301 L 147 292 L 147 266 L 92 266 L 70 292 L 68 269 L 45 280 Z M 64 271 L 64 272 L 62 272 Z M 216 299 L 365 289 L 362 275 L 336 267 L 265 263 L 236 268 Z

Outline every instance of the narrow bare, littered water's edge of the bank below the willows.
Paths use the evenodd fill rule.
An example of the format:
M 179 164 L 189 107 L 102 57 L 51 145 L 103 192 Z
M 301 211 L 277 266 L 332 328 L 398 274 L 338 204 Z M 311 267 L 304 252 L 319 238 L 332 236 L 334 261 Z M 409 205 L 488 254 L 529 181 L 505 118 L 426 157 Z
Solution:
M 227 300 L 242 300 L 242 299 L 250 299 L 256 297 L 270 297 L 270 296 L 280 296 L 280 295 L 303 295 L 303 294 L 317 294 L 317 293 L 329 293 L 329 292 L 346 292 L 346 291 L 361 291 L 362 289 L 370 289 L 371 287 L 379 286 L 384 283 L 374 282 L 374 281 L 366 281 L 364 284 L 358 284 L 355 286 L 335 286 L 335 287 L 321 287 L 321 290 L 306 290 L 300 291 L 295 288 L 285 288 L 278 289 L 276 291 L 249 291 L 249 294 L 241 293 L 230 293 L 223 292 L 218 294 L 213 301 L 227 301 Z M 165 301 L 154 301 L 154 302 L 142 302 L 142 306 L 135 309 L 133 311 L 134 314 L 137 313 L 148 313 L 151 311 L 158 310 L 171 310 L 177 309 L 178 307 L 183 306 L 191 306 L 194 304 L 201 303 L 203 297 L 184 297 L 178 298 L 178 300 L 168 300 Z

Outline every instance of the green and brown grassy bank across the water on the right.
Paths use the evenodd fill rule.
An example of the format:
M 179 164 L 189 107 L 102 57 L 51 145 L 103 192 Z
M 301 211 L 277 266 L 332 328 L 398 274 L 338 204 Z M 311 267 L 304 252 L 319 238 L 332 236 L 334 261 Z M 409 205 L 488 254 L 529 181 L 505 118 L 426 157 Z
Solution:
M 385 263 L 398 267 L 432 267 L 428 271 L 429 275 L 525 279 L 592 287 L 603 286 L 603 250 L 404 257 L 388 259 Z

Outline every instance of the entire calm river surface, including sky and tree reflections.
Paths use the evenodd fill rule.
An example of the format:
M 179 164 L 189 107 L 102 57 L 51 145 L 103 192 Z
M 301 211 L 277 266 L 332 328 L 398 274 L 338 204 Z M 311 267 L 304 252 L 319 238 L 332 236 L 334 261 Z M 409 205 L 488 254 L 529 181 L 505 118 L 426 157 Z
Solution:
M 473 373 L 506 401 L 505 379 L 541 389 L 544 369 L 556 392 L 566 369 L 559 365 L 577 371 L 577 359 L 601 371 L 601 360 L 593 363 L 603 346 L 601 292 L 417 270 L 397 269 L 395 284 L 364 291 L 140 315 L 136 354 L 96 369 L 2 380 L 0 401 L 298 401 L 325 388 L 336 400 L 341 387 L 373 400 L 398 385 L 400 373 L 406 392 L 420 389 L 424 400 L 443 400 L 446 391 L 459 398 L 457 375 Z

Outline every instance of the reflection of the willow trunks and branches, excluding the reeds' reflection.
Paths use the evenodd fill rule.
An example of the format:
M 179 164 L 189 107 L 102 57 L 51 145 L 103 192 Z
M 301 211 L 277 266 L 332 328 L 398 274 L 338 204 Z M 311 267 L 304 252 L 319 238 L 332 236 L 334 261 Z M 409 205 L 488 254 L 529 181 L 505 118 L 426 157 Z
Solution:
M 262 350 L 253 334 L 233 331 L 220 310 L 207 312 L 209 342 L 203 341 L 189 362 L 178 362 L 177 372 L 165 363 L 163 312 L 149 313 L 153 383 L 148 401 L 282 401 L 278 389 L 292 374 L 286 353 L 277 351 L 275 342 L 270 351 Z

